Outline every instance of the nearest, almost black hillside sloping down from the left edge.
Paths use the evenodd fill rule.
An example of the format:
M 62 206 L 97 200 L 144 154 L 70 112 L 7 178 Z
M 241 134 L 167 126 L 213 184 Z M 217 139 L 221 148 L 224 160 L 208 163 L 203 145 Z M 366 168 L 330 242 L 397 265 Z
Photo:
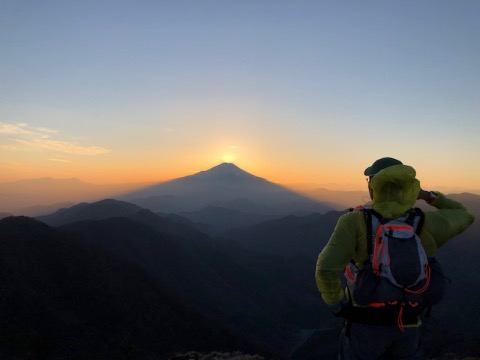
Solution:
M 2 359 L 262 352 L 134 262 L 30 218 L 0 221 L 0 274 Z

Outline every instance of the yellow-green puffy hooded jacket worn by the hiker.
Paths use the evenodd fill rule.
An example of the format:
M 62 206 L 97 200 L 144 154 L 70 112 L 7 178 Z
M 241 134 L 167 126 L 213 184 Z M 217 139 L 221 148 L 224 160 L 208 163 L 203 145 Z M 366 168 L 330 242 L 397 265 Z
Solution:
M 395 218 L 411 209 L 420 191 L 415 169 L 407 165 L 394 165 L 371 178 L 372 208 L 386 218 Z M 449 239 L 460 234 L 473 222 L 474 217 L 465 207 L 441 193 L 431 205 L 436 211 L 425 212 L 420 238 L 427 256 Z M 339 303 L 345 296 L 339 273 L 350 260 L 358 267 L 368 259 L 367 227 L 363 212 L 342 215 L 325 248 L 318 256 L 315 279 L 322 299 L 328 305 Z

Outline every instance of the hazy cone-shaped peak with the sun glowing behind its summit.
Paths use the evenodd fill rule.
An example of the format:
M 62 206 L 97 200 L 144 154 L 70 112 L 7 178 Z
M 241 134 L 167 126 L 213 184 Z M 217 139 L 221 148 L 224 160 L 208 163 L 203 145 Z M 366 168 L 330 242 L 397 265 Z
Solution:
M 234 164 L 156 184 L 117 197 L 154 212 L 198 211 L 207 206 L 264 215 L 296 211 L 325 212 L 330 208 L 283 186 L 252 175 Z

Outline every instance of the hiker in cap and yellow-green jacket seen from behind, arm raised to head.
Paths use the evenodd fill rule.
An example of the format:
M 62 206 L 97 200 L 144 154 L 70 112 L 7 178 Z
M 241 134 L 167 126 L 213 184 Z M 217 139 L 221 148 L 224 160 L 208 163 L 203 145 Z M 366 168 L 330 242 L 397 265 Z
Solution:
M 364 175 L 371 205 L 340 216 L 315 271 L 322 299 L 345 319 L 339 359 L 423 359 L 419 316 L 445 290 L 435 254 L 474 217 L 444 194 L 423 190 L 415 169 L 397 159 L 381 158 Z M 436 209 L 414 208 L 417 200 Z

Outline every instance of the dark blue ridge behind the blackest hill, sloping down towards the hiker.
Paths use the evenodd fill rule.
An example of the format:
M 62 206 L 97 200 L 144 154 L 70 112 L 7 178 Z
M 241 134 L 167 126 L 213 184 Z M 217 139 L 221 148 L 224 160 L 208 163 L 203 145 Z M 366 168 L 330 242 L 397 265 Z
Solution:
M 298 341 L 298 328 L 314 326 L 312 314 L 321 315 L 310 277 L 300 275 L 304 269 L 309 272 L 309 264 L 293 266 L 234 242 L 214 240 L 180 216 L 110 199 L 42 220 L 75 234 L 82 246 L 106 249 L 135 264 L 193 308 L 222 319 L 226 328 L 262 339 L 265 349 L 289 350 Z M 275 274 L 282 274 L 281 281 Z M 292 316 L 290 307 L 302 310 Z

